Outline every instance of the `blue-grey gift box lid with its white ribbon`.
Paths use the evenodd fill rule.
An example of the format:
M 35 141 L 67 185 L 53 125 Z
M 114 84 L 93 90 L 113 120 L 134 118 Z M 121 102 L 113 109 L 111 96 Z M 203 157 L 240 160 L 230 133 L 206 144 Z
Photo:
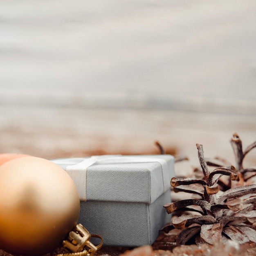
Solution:
M 152 203 L 170 189 L 171 155 L 102 155 L 51 160 L 76 184 L 80 200 Z

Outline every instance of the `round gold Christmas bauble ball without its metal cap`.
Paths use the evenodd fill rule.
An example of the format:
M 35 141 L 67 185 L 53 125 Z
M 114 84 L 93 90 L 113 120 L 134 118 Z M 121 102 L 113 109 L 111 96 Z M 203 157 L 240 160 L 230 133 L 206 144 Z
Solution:
M 0 249 L 46 254 L 61 245 L 79 210 L 76 186 L 58 165 L 22 157 L 0 166 Z

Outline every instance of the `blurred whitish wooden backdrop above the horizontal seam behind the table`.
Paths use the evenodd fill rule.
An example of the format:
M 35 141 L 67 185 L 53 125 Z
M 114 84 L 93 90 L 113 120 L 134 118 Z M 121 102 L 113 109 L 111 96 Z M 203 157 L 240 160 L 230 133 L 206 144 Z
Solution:
M 1 0 L 0 102 L 256 114 L 255 0 Z

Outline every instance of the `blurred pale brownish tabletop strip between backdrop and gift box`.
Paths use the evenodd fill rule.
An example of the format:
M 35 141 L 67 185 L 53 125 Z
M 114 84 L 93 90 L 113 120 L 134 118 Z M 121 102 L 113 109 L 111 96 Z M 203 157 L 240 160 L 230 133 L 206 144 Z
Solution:
M 46 107 L 0 107 L 0 153 L 25 153 L 52 159 L 102 154 L 159 153 L 155 141 L 189 162 L 177 171 L 198 166 L 195 144 L 206 157 L 234 162 L 229 140 L 234 132 L 243 145 L 256 140 L 254 115 Z M 255 152 L 245 159 L 256 164 Z

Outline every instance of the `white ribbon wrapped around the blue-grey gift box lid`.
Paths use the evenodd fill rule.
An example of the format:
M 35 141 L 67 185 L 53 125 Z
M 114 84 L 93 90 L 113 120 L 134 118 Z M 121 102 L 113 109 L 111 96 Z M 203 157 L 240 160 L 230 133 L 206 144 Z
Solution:
M 164 192 L 170 187 L 168 165 L 165 159 L 159 157 L 122 156 L 122 155 L 99 155 L 92 156 L 84 161 L 67 166 L 65 171 L 70 175 L 79 193 L 80 200 L 86 201 L 86 171 L 95 163 L 150 163 L 157 162 L 162 166 Z

